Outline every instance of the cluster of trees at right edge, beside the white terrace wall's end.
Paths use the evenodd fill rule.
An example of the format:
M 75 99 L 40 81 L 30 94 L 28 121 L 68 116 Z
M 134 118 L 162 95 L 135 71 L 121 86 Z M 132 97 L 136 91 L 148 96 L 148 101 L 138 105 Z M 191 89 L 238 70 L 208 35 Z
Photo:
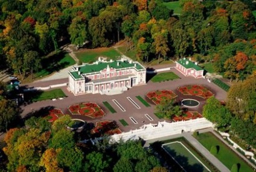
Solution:
M 228 91 L 226 106 L 211 97 L 203 106 L 203 116 L 256 147 L 256 75 L 233 85 Z

